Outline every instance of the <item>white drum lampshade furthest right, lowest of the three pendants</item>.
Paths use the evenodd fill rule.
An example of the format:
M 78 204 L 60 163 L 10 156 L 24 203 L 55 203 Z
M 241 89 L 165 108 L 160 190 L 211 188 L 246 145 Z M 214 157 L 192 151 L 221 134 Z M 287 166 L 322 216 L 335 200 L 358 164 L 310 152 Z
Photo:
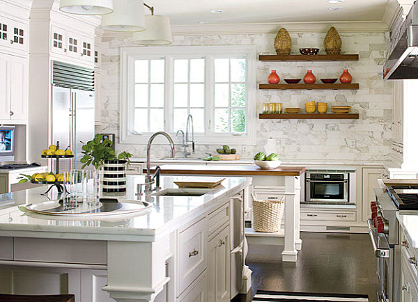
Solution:
M 173 42 L 170 18 L 150 15 L 145 17 L 146 31 L 134 33 L 132 38 L 135 44 L 141 45 L 168 45 Z

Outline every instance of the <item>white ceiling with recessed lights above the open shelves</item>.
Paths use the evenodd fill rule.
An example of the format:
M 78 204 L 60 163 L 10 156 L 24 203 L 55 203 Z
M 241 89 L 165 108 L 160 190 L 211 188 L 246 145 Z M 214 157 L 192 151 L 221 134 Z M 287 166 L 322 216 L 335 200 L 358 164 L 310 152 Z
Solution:
M 389 0 L 146 0 L 171 24 L 381 21 Z M 340 6 L 342 10 L 330 10 Z M 211 13 L 221 9 L 224 13 Z

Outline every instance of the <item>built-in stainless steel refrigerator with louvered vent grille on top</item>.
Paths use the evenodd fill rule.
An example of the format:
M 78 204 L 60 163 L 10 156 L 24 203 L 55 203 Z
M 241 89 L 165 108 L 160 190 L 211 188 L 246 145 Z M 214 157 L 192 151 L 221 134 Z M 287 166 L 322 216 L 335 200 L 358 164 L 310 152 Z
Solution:
M 94 137 L 94 72 L 54 62 L 52 84 L 52 141 L 68 146 L 73 159 L 61 159 L 60 172 L 81 168 L 82 143 Z M 81 89 L 82 88 L 82 89 Z

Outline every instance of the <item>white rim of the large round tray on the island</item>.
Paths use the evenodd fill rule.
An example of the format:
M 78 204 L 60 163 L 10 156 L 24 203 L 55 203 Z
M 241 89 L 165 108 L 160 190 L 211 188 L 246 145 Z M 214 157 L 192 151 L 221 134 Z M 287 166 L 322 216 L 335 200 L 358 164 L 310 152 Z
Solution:
M 118 200 L 118 202 L 121 203 L 122 207 L 118 209 L 114 209 L 111 212 L 92 212 L 102 207 L 101 202 L 99 202 L 99 204 L 95 206 L 87 205 L 84 202 L 84 203 L 77 205 L 77 207 L 73 209 L 63 209 L 60 212 L 54 212 L 54 209 L 58 207 L 62 207 L 62 205 L 59 203 L 59 200 L 49 200 L 49 201 L 37 203 L 35 205 L 26 205 L 22 207 L 30 212 L 44 214 L 44 215 L 95 217 L 95 216 L 130 214 L 134 212 L 143 211 L 144 209 L 148 209 L 152 206 L 150 202 L 146 202 L 142 200 L 121 199 L 121 200 Z

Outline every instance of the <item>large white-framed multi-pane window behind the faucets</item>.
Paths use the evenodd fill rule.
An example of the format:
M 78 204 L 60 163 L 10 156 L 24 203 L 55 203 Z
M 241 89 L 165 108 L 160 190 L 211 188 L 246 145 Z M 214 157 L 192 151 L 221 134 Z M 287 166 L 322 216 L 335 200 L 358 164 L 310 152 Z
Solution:
M 121 50 L 121 143 L 185 131 L 196 143 L 255 143 L 254 46 L 129 47 Z

